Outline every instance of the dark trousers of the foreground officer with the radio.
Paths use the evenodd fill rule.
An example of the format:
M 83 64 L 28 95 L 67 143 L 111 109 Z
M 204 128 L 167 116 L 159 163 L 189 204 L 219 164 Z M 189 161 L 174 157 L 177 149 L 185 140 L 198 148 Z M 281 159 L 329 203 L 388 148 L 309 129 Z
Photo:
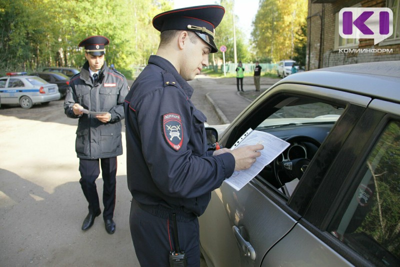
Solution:
M 169 266 L 169 252 L 175 251 L 174 227 L 171 219 L 144 211 L 136 200 L 130 205 L 130 234 L 140 266 Z M 177 221 L 180 250 L 187 257 L 187 266 L 200 266 L 198 219 Z

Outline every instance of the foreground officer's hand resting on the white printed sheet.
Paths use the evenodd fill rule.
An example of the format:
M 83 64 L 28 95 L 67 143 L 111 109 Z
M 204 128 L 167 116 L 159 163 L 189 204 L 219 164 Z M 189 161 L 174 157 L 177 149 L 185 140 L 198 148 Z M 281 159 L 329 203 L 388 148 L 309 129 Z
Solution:
M 255 158 L 261 155 L 258 150 L 264 149 L 264 146 L 260 143 L 254 145 L 246 145 L 242 147 L 230 150 L 230 153 L 234 157 L 234 170 L 243 170 L 251 167 L 255 162 Z

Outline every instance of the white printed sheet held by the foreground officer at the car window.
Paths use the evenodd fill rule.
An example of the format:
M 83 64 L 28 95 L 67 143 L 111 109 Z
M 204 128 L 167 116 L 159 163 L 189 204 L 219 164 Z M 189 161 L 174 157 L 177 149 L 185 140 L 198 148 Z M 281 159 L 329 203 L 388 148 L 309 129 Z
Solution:
M 281 154 L 289 143 L 267 132 L 248 129 L 231 147 L 231 149 L 260 143 L 264 149 L 260 150 L 261 155 L 250 168 L 240 171 L 233 171 L 232 176 L 225 179 L 224 182 L 232 186 L 237 191 L 240 190 L 247 182 L 255 177 L 267 164 L 272 162 L 279 154 Z

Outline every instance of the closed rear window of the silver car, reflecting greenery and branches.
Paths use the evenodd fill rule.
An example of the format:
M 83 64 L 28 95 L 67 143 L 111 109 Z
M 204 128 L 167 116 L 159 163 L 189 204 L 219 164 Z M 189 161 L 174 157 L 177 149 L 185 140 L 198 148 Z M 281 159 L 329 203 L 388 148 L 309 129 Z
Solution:
M 375 265 L 399 266 L 400 122 L 388 123 L 360 174 L 328 231 Z

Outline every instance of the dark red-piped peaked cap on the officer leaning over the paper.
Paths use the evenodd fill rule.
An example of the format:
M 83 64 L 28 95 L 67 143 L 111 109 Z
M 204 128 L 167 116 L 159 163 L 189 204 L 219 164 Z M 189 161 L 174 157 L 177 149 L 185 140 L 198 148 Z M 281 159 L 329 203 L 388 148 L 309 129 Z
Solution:
M 215 28 L 225 14 L 221 5 L 198 5 L 162 12 L 153 18 L 153 26 L 160 32 L 168 29 L 194 31 L 211 46 L 211 53 L 218 51 L 214 42 Z

